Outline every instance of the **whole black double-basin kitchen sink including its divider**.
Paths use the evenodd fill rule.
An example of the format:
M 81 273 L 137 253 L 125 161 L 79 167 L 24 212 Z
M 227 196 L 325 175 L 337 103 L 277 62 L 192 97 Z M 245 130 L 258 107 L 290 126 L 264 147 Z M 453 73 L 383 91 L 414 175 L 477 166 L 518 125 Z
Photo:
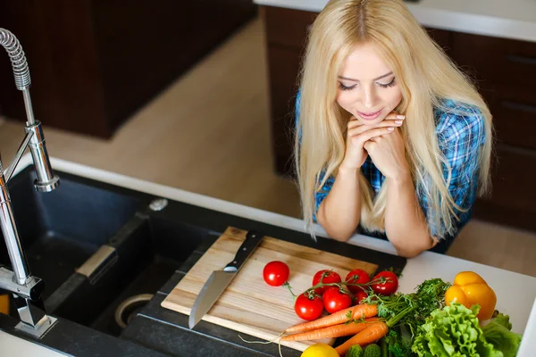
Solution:
M 29 270 L 45 281 L 47 313 L 120 336 L 141 305 L 119 319 L 118 308 L 154 295 L 208 231 L 161 217 L 148 208 L 155 197 L 58 173 L 51 193 L 35 191 L 29 168 L 8 185 Z M 0 264 L 10 266 L 5 248 Z

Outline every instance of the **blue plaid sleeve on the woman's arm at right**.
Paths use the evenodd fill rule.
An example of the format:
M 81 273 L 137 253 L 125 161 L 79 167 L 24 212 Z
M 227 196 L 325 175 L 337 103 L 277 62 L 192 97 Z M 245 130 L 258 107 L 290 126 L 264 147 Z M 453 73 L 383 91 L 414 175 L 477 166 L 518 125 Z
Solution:
M 456 112 L 465 113 L 441 113 L 437 130 L 440 150 L 448 162 L 448 167 L 443 164 L 448 192 L 456 205 L 467 210 L 455 208 L 458 217 L 458 220 L 454 218 L 457 234 L 471 218 L 471 208 L 478 189 L 479 158 L 486 132 L 484 118 L 478 109 L 456 107 Z M 437 235 L 438 232 L 432 228 L 431 234 Z

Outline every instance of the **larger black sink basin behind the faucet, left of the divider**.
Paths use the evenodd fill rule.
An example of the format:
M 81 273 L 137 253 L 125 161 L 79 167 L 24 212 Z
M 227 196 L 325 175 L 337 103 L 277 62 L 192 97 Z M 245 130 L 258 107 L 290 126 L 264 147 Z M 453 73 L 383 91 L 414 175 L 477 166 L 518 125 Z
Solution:
M 8 187 L 29 269 L 45 280 L 46 298 L 130 220 L 141 202 L 68 178 L 53 192 L 38 193 L 34 175 L 24 170 Z M 0 264 L 11 266 L 0 246 Z

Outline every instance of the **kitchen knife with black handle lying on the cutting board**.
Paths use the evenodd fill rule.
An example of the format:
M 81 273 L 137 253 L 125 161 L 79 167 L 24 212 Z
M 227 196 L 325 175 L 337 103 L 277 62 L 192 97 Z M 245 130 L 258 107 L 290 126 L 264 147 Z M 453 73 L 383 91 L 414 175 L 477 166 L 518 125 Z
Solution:
M 215 270 L 206 280 L 205 285 L 201 288 L 196 301 L 192 306 L 188 318 L 188 328 L 192 329 L 197 325 L 205 313 L 208 312 L 214 303 L 218 301 L 223 291 L 229 286 L 232 279 L 237 275 L 249 255 L 255 250 L 263 239 L 262 235 L 253 231 L 247 232 L 246 239 L 240 245 L 232 262 L 227 264 L 222 270 Z

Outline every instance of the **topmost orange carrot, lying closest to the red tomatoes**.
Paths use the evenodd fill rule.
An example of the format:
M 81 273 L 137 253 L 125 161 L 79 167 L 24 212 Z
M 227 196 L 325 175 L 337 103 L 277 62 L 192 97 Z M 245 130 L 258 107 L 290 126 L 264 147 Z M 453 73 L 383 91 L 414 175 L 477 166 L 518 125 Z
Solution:
M 356 306 L 348 307 L 341 311 L 333 312 L 331 315 L 325 316 L 321 319 L 304 322 L 287 328 L 286 334 L 296 334 L 299 332 L 312 331 L 317 328 L 327 328 L 333 325 L 339 325 L 341 323 L 348 322 L 349 320 L 372 318 L 378 314 L 378 306 L 367 305 L 366 303 L 358 304 Z

